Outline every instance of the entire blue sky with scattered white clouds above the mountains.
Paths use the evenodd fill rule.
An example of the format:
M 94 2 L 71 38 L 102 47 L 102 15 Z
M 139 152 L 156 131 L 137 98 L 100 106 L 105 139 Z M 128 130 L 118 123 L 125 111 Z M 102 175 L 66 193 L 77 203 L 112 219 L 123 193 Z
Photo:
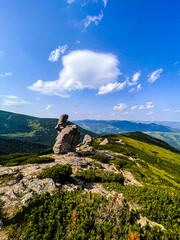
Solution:
M 0 109 L 180 121 L 179 9 L 179 0 L 0 0 Z

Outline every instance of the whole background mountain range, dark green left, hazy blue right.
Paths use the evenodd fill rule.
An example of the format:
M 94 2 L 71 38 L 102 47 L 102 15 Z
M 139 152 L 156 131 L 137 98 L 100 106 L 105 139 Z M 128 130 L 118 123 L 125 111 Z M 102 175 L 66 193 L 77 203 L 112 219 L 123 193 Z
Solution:
M 38 118 L 0 111 L 0 154 L 49 151 L 52 149 L 57 136 L 57 131 L 54 128 L 57 121 L 56 118 Z M 180 150 L 180 129 L 177 128 L 177 123 L 175 124 L 176 128 L 173 128 L 164 124 L 119 120 L 81 120 L 73 122 L 79 126 L 81 140 L 85 134 L 95 137 L 111 133 L 141 131 L 166 141 Z

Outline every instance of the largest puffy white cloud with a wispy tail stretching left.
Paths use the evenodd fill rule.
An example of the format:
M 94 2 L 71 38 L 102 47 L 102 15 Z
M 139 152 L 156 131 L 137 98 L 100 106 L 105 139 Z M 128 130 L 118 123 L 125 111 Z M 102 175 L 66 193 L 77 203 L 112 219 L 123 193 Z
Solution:
M 28 88 L 46 95 L 68 97 L 73 90 L 100 89 L 117 82 L 121 74 L 116 56 L 89 50 L 76 50 L 62 57 L 63 69 L 56 81 L 38 80 Z M 121 85 L 117 84 L 117 88 Z M 102 93 L 102 89 L 101 89 Z

